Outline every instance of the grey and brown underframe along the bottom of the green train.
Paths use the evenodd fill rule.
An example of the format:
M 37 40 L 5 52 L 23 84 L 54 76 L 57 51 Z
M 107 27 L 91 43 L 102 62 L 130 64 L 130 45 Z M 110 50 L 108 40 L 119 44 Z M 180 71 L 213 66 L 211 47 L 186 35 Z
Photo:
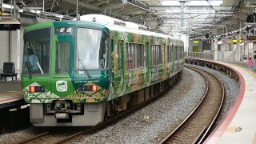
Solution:
M 56 100 L 50 104 L 30 104 L 30 122 L 34 126 L 95 126 L 123 110 L 155 98 L 167 90 L 182 71 L 163 82 L 123 95 L 108 102 L 72 103 Z

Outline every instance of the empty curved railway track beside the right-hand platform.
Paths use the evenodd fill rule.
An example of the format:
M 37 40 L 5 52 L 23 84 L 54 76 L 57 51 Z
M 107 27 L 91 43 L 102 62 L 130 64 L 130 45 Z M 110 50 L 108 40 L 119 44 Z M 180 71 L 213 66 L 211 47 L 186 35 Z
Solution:
M 160 143 L 202 143 L 218 117 L 224 100 L 224 86 L 214 75 L 196 68 L 186 66 L 198 71 L 206 79 L 206 92 L 198 106 L 176 128 L 172 129 Z

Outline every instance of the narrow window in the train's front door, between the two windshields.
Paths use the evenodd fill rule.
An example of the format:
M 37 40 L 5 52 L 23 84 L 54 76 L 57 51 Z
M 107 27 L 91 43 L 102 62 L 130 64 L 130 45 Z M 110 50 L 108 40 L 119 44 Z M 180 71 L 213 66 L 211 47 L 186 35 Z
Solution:
M 57 42 L 55 74 L 68 74 L 70 66 L 70 42 Z

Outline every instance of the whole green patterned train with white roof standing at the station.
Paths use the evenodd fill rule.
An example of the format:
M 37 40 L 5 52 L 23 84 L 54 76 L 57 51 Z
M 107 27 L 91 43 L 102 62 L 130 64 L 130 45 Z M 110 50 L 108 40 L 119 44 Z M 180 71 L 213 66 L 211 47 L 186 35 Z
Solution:
M 184 44 L 100 14 L 26 27 L 22 92 L 34 126 L 95 126 L 168 89 Z

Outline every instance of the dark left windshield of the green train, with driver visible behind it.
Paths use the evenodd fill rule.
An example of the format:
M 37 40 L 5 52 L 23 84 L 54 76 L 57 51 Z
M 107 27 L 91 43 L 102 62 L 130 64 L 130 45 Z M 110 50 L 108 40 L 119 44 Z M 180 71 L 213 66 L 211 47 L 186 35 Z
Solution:
M 44 28 L 25 34 L 22 74 L 49 74 L 50 30 Z

